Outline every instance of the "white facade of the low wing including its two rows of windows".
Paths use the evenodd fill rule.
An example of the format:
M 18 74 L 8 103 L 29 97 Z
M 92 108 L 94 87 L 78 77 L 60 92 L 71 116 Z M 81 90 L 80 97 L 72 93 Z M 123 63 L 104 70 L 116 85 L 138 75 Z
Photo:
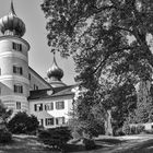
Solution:
M 59 103 L 60 105 L 59 107 Z M 35 115 L 39 125 L 45 128 L 67 126 L 70 118 L 73 96 L 63 96 L 30 102 L 30 113 Z M 40 108 L 42 107 L 42 108 Z

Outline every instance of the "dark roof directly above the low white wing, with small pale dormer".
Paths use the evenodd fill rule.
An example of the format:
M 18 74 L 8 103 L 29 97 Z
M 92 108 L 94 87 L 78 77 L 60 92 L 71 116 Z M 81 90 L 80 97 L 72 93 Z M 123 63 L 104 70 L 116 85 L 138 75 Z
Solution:
M 73 87 L 75 87 L 75 85 L 31 91 L 28 99 L 30 101 L 31 99 L 44 99 L 44 98 L 74 95 L 74 93 L 72 92 Z

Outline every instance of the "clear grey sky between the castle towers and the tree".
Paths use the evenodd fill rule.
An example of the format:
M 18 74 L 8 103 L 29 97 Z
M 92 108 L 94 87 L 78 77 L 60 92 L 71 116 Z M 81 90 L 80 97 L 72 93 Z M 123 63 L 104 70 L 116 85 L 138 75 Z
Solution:
M 31 45 L 28 51 L 28 64 L 43 78 L 47 76 L 47 70 L 52 63 L 52 54 L 47 45 L 46 19 L 40 9 L 43 0 L 13 0 L 16 15 L 22 19 L 26 26 L 23 36 Z M 11 0 L 0 0 L 0 17 L 10 11 Z M 62 81 L 70 85 L 74 83 L 74 63 L 71 58 L 63 59 L 56 54 L 59 68 L 63 70 Z

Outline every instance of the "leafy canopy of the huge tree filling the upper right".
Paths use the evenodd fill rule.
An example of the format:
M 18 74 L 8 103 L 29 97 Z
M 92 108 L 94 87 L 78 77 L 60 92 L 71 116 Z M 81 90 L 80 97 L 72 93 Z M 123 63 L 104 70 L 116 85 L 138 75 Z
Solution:
M 104 96 L 99 98 L 97 93 L 104 75 L 111 82 L 110 89 L 128 80 L 134 86 L 144 84 L 148 92 L 143 101 L 152 105 L 146 86 L 153 72 L 152 0 L 44 0 L 42 9 L 47 19 L 48 45 L 63 57 L 72 55 L 76 80 L 87 89 L 80 110 L 91 113 L 91 107 L 102 101 Z M 143 89 L 138 89 L 139 97 Z M 138 109 L 141 99 L 137 101 Z

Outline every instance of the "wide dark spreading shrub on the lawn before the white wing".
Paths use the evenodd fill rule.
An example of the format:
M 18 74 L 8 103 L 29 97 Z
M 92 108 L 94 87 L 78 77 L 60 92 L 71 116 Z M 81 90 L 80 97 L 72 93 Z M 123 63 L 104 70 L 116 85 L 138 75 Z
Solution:
M 67 142 L 72 138 L 68 127 L 58 127 L 42 130 L 38 134 L 40 141 L 51 148 L 64 150 Z

